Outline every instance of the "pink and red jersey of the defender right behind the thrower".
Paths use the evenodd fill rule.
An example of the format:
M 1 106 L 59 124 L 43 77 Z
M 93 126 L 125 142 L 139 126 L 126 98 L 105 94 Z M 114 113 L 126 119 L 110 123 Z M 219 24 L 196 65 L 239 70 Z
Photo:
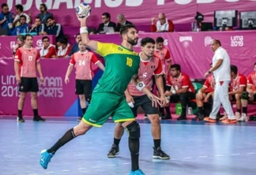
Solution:
M 140 62 L 140 68 L 138 70 L 139 78 L 145 83 L 146 87 L 151 90 L 152 88 L 152 75 L 161 75 L 162 74 L 162 65 L 160 58 L 152 57 L 149 61 Z M 137 90 L 136 86 L 130 82 L 128 84 L 128 91 L 132 96 L 141 96 L 145 95 L 144 92 Z

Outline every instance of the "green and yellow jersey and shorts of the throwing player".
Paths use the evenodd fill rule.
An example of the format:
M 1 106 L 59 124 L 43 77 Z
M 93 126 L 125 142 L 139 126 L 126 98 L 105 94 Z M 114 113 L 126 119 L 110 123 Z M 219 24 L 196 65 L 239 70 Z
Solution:
M 140 58 L 133 50 L 113 43 L 98 42 L 96 52 L 104 57 L 105 70 L 92 93 L 83 121 L 101 127 L 108 117 L 115 122 L 134 121 L 124 91 L 132 77 L 137 74 Z

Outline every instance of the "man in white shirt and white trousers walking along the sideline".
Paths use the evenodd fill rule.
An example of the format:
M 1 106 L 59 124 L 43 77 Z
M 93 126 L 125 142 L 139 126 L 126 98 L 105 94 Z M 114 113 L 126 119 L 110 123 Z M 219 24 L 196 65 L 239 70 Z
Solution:
M 204 121 L 215 123 L 216 114 L 220 110 L 220 104 L 222 104 L 224 110 L 228 114 L 228 119 L 221 122 L 224 124 L 234 124 L 236 123 L 235 115 L 228 99 L 228 84 L 231 80 L 230 58 L 228 52 L 221 47 L 220 40 L 213 39 L 211 47 L 214 52 L 213 68 L 205 73 L 205 77 L 209 76 L 210 73 L 213 73 L 216 85 L 213 97 L 213 110 L 211 114 L 209 114 L 209 117 L 205 117 Z

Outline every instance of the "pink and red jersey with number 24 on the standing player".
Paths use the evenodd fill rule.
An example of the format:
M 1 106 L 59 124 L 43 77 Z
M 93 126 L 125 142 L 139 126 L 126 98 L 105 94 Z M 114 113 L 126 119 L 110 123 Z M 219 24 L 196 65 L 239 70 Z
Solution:
M 97 64 L 98 62 L 96 55 L 86 50 L 85 52 L 78 51 L 74 53 L 70 65 L 74 65 L 76 69 L 77 80 L 92 80 L 92 63 Z

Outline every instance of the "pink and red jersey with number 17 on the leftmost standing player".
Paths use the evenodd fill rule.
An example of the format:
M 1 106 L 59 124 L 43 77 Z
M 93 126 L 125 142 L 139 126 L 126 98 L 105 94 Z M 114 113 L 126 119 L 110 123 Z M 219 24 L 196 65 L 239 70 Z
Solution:
M 14 61 L 19 61 L 20 63 L 19 73 L 21 77 L 36 77 L 36 62 L 40 61 L 40 55 L 36 48 L 20 47 L 15 54 Z

